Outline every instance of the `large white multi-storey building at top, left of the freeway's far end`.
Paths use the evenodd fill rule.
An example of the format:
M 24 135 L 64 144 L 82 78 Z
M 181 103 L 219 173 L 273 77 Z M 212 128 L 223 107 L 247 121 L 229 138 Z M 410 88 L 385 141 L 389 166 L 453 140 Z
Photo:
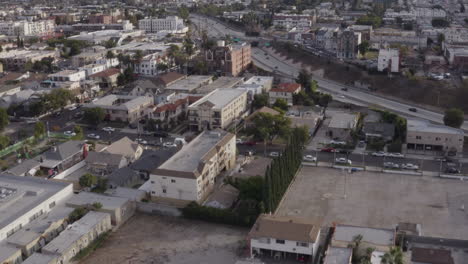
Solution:
M 188 27 L 184 25 L 184 20 L 178 16 L 141 19 L 138 21 L 138 28 L 146 33 L 157 33 L 159 31 L 186 33 L 188 31 Z

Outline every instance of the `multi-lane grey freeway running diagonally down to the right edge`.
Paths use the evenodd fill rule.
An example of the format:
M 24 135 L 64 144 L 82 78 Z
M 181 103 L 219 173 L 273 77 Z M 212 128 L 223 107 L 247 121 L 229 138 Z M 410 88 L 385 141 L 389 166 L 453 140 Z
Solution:
M 211 37 L 219 38 L 224 37 L 225 35 L 231 35 L 244 40 L 258 40 L 258 38 L 246 37 L 243 32 L 236 31 L 211 18 L 201 17 L 198 15 L 191 15 L 191 18 L 197 26 L 209 29 L 207 32 Z M 278 55 L 274 54 L 270 49 L 253 48 L 252 60 L 258 67 L 267 71 L 273 71 L 280 76 L 289 77 L 290 79 L 295 78 L 301 69 L 300 65 L 295 65 L 285 61 L 284 58 L 278 57 Z M 370 91 L 365 91 L 353 86 L 347 86 L 319 76 L 314 75 L 313 79 L 317 81 L 321 90 L 332 93 L 335 100 L 369 107 L 379 107 L 397 112 L 407 118 L 417 117 L 434 123 L 443 124 L 442 113 L 430 111 L 418 107 L 417 105 L 384 98 L 380 95 L 372 94 Z M 347 88 L 347 91 L 343 91 L 343 88 Z M 410 111 L 410 108 L 416 108 L 417 112 Z M 461 128 L 465 132 L 468 132 L 468 122 L 465 122 Z

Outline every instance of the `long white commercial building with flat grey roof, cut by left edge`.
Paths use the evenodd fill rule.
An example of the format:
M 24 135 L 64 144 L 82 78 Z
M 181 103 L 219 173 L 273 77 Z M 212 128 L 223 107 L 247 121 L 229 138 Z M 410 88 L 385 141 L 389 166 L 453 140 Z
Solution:
M 69 183 L 2 174 L 0 177 L 0 241 L 49 213 L 73 195 Z

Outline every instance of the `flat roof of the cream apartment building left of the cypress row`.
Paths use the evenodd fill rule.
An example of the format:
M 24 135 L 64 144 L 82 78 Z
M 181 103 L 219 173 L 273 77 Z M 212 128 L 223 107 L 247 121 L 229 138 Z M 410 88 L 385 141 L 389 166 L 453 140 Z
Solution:
M 162 169 L 193 173 L 198 169 L 200 162 L 203 161 L 210 150 L 232 136 L 234 135 L 220 129 L 204 131 L 190 143 L 183 146 L 179 152 L 164 162 L 156 171 Z

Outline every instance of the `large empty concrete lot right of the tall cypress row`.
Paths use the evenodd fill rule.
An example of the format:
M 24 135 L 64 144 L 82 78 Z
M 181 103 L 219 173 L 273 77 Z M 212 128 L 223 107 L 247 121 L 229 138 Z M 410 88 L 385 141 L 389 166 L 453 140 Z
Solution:
M 466 239 L 462 205 L 468 205 L 468 183 L 459 180 L 304 167 L 277 214 L 323 217 L 326 225 L 420 223 L 425 236 Z

